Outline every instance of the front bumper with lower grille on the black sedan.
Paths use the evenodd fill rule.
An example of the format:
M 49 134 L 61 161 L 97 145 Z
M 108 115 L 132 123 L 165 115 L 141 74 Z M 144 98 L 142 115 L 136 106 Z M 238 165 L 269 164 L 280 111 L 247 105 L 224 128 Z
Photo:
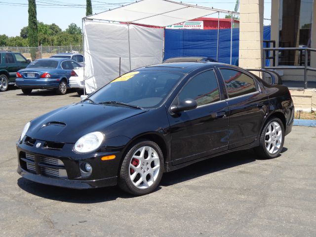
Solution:
M 59 150 L 50 150 L 52 142 L 41 141 L 25 136 L 17 143 L 17 172 L 24 178 L 41 184 L 89 189 L 117 184 L 121 151 L 112 152 L 101 149 L 90 154 L 76 154 L 73 144 L 65 143 Z M 33 144 L 33 145 L 32 145 Z M 40 144 L 38 147 L 37 144 Z M 59 144 L 60 145 L 60 144 Z M 116 155 L 112 160 L 101 160 L 104 156 Z M 31 158 L 30 158 L 31 157 Z M 54 162 L 54 161 L 57 161 Z M 92 167 L 90 175 L 84 174 L 80 168 L 82 162 L 88 162 Z M 61 172 L 62 171 L 62 172 Z

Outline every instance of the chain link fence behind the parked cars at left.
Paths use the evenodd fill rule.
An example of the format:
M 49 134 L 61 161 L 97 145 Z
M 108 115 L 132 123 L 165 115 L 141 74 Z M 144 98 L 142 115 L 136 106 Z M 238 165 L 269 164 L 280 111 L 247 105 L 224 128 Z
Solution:
M 82 45 L 38 46 L 38 47 L 0 47 L 0 51 L 19 52 L 27 59 L 49 58 L 57 53 L 83 53 Z

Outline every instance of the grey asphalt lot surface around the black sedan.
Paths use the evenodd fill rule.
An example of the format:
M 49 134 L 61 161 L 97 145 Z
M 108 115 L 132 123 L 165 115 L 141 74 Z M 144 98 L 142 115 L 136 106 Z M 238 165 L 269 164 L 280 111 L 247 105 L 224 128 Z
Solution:
M 211 158 L 164 174 L 142 197 L 20 177 L 15 142 L 25 123 L 79 100 L 76 92 L 0 92 L 1 237 L 316 236 L 316 127 L 293 127 L 277 158 L 252 151 Z

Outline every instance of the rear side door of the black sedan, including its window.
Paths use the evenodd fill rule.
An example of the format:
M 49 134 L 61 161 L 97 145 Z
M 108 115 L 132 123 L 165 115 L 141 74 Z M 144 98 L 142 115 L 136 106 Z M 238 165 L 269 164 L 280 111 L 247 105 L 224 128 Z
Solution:
M 268 94 L 250 74 L 237 69 L 219 69 L 224 79 L 229 108 L 229 149 L 257 138 L 268 111 Z

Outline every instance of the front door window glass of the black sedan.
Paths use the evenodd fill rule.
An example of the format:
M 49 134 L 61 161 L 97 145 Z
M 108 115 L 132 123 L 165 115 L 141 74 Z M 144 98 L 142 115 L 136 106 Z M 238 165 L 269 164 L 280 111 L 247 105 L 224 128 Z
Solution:
M 220 100 L 218 83 L 214 70 L 198 74 L 192 78 L 178 95 L 178 100 L 194 99 L 197 106 Z

